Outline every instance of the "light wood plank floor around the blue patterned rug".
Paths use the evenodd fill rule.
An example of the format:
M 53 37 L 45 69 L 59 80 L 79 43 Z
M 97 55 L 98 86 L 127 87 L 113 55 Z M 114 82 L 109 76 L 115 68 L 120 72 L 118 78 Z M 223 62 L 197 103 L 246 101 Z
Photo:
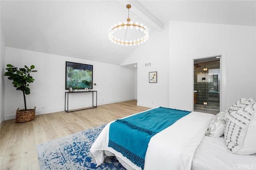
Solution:
M 34 121 L 26 123 L 4 121 L 0 129 L 0 169 L 38 170 L 36 145 L 149 109 L 136 104 L 137 100 L 131 100 L 70 113 L 36 115 Z

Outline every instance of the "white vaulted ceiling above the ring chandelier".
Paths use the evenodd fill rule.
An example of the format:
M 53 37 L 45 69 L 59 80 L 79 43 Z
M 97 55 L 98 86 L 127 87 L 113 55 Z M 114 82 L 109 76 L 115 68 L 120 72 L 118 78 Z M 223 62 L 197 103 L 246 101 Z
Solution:
M 130 18 L 161 31 L 169 21 L 256 26 L 255 0 L 1 0 L 7 47 L 120 65 L 139 46 L 108 39 L 114 23 Z M 150 37 L 149 37 L 150 38 Z M 142 44 L 145 45 L 145 44 Z

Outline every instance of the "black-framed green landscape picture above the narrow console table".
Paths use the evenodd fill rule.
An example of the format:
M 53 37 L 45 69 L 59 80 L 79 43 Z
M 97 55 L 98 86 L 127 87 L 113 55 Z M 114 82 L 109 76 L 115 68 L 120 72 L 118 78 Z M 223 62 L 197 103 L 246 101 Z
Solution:
M 65 89 L 93 88 L 93 65 L 66 61 Z

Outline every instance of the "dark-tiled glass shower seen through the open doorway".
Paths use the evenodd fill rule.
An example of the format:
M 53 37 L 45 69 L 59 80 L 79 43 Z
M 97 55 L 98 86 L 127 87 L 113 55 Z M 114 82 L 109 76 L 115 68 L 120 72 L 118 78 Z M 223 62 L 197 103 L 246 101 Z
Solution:
M 207 70 L 204 71 L 204 68 Z M 194 90 L 197 91 L 197 102 L 194 104 L 194 109 L 220 110 L 219 68 L 219 60 L 194 63 Z M 202 80 L 202 77 L 205 77 L 206 80 Z M 204 102 L 207 102 L 207 105 L 204 105 Z

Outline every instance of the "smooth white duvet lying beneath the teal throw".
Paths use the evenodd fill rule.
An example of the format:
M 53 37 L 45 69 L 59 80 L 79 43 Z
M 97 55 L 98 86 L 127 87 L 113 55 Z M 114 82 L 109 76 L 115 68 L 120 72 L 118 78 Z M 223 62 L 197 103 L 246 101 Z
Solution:
M 193 111 L 182 117 L 170 127 L 154 135 L 148 144 L 145 157 L 145 170 L 190 170 L 194 152 L 208 128 L 214 115 Z M 112 122 L 110 122 L 112 123 Z M 104 162 L 104 150 L 114 153 L 131 168 L 140 169 L 121 153 L 108 147 L 109 126 L 102 130 L 90 151 L 99 166 Z

